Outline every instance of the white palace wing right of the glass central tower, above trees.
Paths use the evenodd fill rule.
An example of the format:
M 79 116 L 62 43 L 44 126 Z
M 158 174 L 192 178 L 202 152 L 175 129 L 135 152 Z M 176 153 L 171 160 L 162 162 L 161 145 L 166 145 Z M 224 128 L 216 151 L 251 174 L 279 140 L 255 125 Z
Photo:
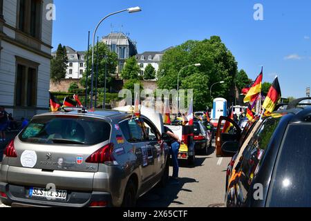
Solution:
M 164 53 L 171 48 L 167 48 L 162 51 L 148 51 L 143 52 L 142 54 L 136 55 L 136 59 L 138 61 L 138 65 L 140 66 L 140 75 L 144 76 L 144 70 L 145 68 L 151 64 L 153 68 L 156 69 L 156 73 L 158 73 L 160 63 L 162 61 L 162 57 Z

